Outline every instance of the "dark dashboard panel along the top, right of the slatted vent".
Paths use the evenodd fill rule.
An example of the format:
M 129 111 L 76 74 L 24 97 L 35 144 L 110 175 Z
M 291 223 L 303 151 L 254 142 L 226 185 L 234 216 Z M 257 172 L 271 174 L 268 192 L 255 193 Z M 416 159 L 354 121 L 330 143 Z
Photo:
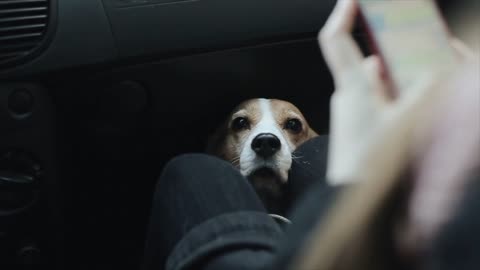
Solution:
M 15 1 L 35 2 L 10 2 Z M 43 48 L 23 64 L 0 68 L 0 79 L 312 36 L 335 2 L 36 1 L 48 1 L 49 5 L 50 20 Z

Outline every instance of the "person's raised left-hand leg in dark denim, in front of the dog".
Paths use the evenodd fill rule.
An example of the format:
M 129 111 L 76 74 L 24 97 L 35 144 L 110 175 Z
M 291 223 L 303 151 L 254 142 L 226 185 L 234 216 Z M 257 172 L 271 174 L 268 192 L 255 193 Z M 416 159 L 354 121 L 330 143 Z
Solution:
M 181 156 L 165 167 L 157 184 L 143 269 L 200 263 L 215 269 L 232 262 L 228 258 L 237 251 L 256 254 L 259 260 L 251 263 L 261 265 L 281 234 L 231 164 L 206 155 Z

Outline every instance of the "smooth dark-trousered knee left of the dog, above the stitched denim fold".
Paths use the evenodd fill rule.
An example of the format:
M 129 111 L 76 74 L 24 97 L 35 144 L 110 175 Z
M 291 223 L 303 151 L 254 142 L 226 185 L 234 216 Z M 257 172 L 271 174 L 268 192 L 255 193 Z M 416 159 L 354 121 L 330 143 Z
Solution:
M 247 179 L 230 163 L 204 154 L 174 158 L 156 186 L 144 269 L 163 269 L 175 244 L 195 226 L 240 211 L 265 209 Z

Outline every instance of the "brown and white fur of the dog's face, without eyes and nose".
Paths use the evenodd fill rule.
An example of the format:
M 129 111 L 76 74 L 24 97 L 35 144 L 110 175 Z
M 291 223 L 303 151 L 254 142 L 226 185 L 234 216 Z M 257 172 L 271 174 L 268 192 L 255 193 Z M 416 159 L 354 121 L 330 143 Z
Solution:
M 242 128 L 238 128 L 239 121 L 242 121 Z M 296 123 L 295 130 L 291 128 L 292 121 Z M 317 135 L 294 105 L 268 99 L 243 102 L 222 129 L 215 138 L 215 154 L 232 162 L 244 176 L 251 176 L 260 169 L 268 169 L 281 182 L 288 180 L 293 151 Z M 273 134 L 280 140 L 280 149 L 271 157 L 259 156 L 252 149 L 252 142 L 259 134 Z

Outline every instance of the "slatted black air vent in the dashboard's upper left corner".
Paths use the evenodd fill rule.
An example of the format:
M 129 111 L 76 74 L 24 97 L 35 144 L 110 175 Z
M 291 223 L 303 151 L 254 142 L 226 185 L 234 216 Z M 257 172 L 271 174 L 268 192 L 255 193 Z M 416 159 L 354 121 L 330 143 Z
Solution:
M 49 0 L 0 0 L 0 67 L 26 59 L 44 40 Z

